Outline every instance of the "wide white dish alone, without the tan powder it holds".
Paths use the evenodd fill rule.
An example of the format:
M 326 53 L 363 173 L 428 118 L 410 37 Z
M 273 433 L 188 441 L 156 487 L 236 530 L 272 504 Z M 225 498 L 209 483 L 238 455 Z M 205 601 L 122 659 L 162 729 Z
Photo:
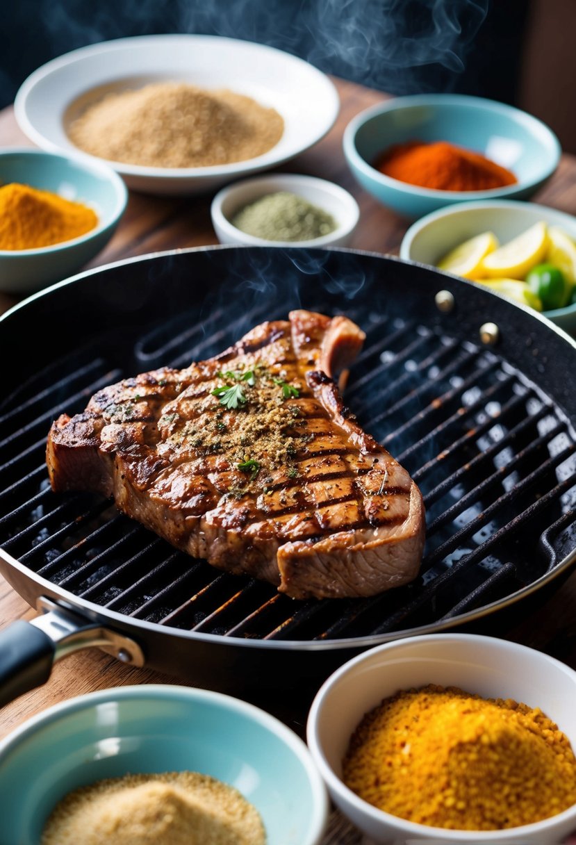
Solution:
M 85 95 L 101 86 L 122 90 L 160 80 L 253 97 L 280 112 L 285 128 L 264 155 L 229 165 L 176 169 L 109 162 L 129 188 L 151 194 L 197 194 L 274 167 L 323 138 L 340 107 L 325 74 L 273 47 L 218 35 L 143 35 L 81 47 L 38 68 L 16 95 L 16 119 L 42 149 L 78 153 L 66 128 L 79 112 L 73 104 L 80 96 L 85 103 Z

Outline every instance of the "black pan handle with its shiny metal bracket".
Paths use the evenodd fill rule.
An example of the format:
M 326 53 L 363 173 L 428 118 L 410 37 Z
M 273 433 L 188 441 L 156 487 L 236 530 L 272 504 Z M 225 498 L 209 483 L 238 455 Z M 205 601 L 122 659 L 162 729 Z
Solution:
M 46 684 L 52 665 L 82 648 L 100 646 L 124 663 L 144 666 L 142 649 L 130 637 L 50 598 L 41 597 L 38 606 L 43 613 L 31 622 L 19 619 L 0 631 L 0 707 Z

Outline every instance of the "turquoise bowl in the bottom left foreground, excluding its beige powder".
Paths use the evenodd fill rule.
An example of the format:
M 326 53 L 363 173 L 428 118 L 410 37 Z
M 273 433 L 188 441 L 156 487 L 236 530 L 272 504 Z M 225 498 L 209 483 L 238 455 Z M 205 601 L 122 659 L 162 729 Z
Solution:
M 0 743 L 2 841 L 38 845 L 47 816 L 73 789 L 162 771 L 199 771 L 236 787 L 262 816 L 267 845 L 322 839 L 326 790 L 296 733 L 228 695 L 145 684 L 50 707 Z

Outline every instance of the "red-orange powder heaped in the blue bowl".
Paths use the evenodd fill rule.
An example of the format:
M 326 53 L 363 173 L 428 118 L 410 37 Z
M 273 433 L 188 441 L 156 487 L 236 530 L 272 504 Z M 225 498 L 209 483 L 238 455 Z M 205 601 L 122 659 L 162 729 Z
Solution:
M 486 191 L 518 182 L 506 167 L 448 141 L 394 144 L 375 166 L 400 182 L 439 191 Z

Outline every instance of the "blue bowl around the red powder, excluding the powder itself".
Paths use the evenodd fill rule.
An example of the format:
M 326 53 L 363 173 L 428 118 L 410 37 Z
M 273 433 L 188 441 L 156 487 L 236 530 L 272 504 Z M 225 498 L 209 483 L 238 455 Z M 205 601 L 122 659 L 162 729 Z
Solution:
M 384 176 L 374 161 L 393 144 L 448 141 L 486 155 L 514 172 L 518 183 L 488 191 L 437 191 Z M 415 219 L 443 205 L 472 199 L 526 199 L 552 176 L 560 160 L 555 134 L 514 106 L 459 94 L 396 97 L 354 117 L 345 128 L 351 172 L 378 202 Z

